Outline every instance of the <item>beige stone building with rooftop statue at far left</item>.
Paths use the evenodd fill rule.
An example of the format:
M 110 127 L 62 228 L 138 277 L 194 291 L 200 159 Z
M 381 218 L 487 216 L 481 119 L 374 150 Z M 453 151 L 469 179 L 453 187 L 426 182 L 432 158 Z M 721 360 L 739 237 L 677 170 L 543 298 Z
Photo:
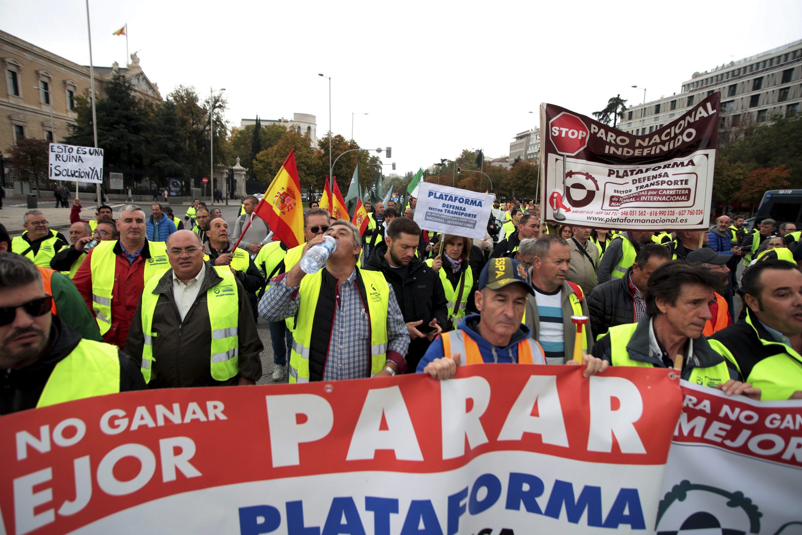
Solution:
M 73 63 L 0 30 L 0 152 L 6 156 L 20 136 L 63 141 L 75 124 L 75 97 L 89 95 L 89 67 Z M 95 67 L 95 91 L 103 98 L 103 83 L 119 66 Z M 140 98 L 161 101 L 136 54 L 119 68 Z M 52 116 L 52 121 L 51 121 Z

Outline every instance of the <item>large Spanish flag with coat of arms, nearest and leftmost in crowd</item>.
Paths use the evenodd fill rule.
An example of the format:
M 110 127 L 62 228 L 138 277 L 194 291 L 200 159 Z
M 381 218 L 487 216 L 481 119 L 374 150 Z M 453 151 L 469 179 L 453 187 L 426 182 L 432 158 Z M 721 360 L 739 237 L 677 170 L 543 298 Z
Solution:
M 253 213 L 270 225 L 273 240 L 281 240 L 288 248 L 304 242 L 301 182 L 295 167 L 295 149 L 284 160 Z

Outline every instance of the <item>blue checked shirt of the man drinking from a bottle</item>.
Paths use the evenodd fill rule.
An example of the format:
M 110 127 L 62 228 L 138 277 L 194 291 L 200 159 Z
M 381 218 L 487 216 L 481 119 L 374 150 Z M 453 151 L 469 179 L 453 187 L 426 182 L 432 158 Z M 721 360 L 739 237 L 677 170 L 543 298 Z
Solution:
M 368 376 L 365 371 L 370 367 L 371 359 L 368 351 L 370 321 L 355 283 L 356 273 L 354 268 L 350 277 L 342 282 L 342 290 L 335 290 L 337 311 L 331 326 L 329 354 L 326 356 L 326 367 L 323 371 L 324 381 L 363 379 Z M 296 291 L 299 286 L 287 286 L 283 274 L 272 280 L 277 284 L 270 286 L 259 301 L 259 315 L 270 322 L 276 322 L 294 316 L 301 305 L 301 299 Z M 387 360 L 393 361 L 399 368 L 399 373 L 403 373 L 407 369 L 403 355 L 407 354 L 409 333 L 399 303 L 395 299 L 395 292 L 392 286 L 389 287 Z

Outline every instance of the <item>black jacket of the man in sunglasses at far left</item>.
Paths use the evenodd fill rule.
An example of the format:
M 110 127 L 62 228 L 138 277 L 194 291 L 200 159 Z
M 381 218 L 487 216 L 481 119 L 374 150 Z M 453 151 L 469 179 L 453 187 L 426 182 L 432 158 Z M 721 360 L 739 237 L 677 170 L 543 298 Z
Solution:
M 58 316 L 52 316 L 50 341 L 47 353 L 33 363 L 14 370 L 0 370 L 0 415 L 36 407 L 55 365 L 70 355 L 81 341 L 81 335 Z M 117 356 L 119 391 L 146 389 L 140 365 L 122 351 L 117 350 Z

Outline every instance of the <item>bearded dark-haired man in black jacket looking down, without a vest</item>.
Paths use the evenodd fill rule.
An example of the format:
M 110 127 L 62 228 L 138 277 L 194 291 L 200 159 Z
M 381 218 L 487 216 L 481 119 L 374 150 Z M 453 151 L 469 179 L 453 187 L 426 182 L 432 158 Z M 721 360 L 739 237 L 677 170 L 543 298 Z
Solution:
M 419 235 L 415 221 L 399 217 L 387 229 L 387 252 L 371 254 L 365 262 L 365 269 L 382 272 L 395 292 L 407 323 L 407 367 L 413 373 L 431 341 L 448 322 L 448 301 L 437 271 L 415 257 Z M 435 261 L 439 268 L 439 257 Z

